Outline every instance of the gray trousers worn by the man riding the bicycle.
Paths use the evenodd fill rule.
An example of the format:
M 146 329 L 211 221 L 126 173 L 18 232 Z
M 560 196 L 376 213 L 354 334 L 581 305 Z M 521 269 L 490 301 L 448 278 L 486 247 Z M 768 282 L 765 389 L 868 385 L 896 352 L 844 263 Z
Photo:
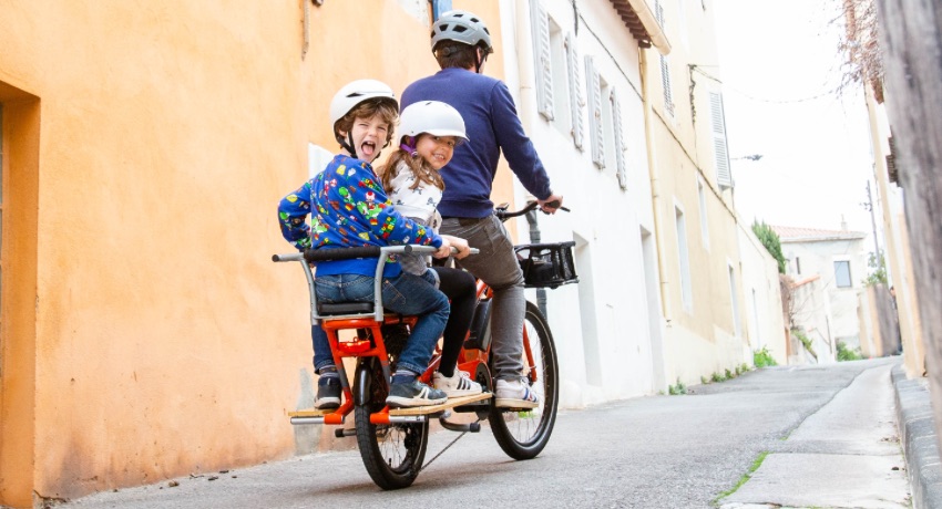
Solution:
M 448 218 L 440 231 L 468 240 L 478 254 L 458 263 L 488 283 L 494 291 L 491 311 L 491 355 L 494 378 L 520 380 L 523 376 L 523 271 L 516 261 L 513 242 L 495 217 Z

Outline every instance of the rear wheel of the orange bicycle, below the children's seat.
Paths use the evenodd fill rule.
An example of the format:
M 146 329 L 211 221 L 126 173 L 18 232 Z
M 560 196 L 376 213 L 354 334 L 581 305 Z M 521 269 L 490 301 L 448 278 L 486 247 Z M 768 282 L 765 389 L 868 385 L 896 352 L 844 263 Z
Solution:
M 382 489 L 392 490 L 412 485 L 428 447 L 429 422 L 376 425 L 370 414 L 386 406 L 387 386 L 378 361 L 361 362 L 357 366 L 357 394 L 366 395 L 354 407 L 357 445 L 370 478 Z M 365 384 L 365 385 L 364 385 Z

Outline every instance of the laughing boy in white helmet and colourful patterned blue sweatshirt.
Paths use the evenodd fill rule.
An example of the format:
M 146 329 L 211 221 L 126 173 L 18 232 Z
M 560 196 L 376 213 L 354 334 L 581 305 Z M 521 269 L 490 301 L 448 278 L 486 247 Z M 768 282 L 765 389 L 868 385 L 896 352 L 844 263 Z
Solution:
M 391 139 L 398 114 L 392 90 L 381 82 L 358 80 L 337 92 L 330 116 L 344 150 L 320 174 L 281 199 L 278 216 L 286 240 L 298 249 L 412 243 L 438 248 L 437 258 L 448 257 L 452 247 L 459 250 L 459 258 L 468 254 L 462 239 L 439 236 L 397 212 L 370 165 Z M 309 214 L 310 226 L 305 221 Z M 376 258 L 318 262 L 318 302 L 372 302 L 377 262 Z M 418 376 L 428 367 L 444 330 L 448 298 L 436 289 L 432 274 L 405 272 L 397 260 L 387 261 L 382 276 L 383 308 L 419 316 L 399 355 L 387 404 L 409 407 L 443 403 L 448 396 L 421 383 Z M 313 326 L 311 336 L 315 371 L 320 375 L 315 407 L 336 408 L 341 391 L 327 334 Z

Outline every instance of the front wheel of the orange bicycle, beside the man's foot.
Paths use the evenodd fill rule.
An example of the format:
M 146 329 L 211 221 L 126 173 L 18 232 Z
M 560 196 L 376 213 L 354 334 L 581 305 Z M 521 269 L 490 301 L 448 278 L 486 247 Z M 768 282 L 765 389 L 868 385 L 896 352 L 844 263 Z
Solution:
M 488 420 L 498 445 L 513 459 L 532 459 L 550 442 L 556 423 L 560 402 L 559 363 L 550 325 L 535 304 L 526 302 L 523 326 L 533 353 L 540 380 L 532 387 L 540 396 L 540 406 L 531 411 L 508 411 L 491 403 Z M 492 370 L 493 371 L 493 370 Z

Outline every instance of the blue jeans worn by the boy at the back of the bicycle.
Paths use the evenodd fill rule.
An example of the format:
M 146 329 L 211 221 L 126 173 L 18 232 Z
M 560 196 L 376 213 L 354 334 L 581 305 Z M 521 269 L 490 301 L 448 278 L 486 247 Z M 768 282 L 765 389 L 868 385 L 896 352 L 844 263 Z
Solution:
M 314 288 L 318 302 L 372 302 L 373 281 L 372 277 L 360 274 L 321 276 L 315 278 Z M 434 274 L 431 271 L 423 276 L 402 272 L 396 278 L 385 278 L 382 308 L 419 316 L 406 347 L 399 355 L 397 368 L 424 373 L 432 357 L 432 349 L 444 331 L 449 313 L 448 298 L 436 289 Z M 310 333 L 314 343 L 314 368 L 320 373 L 322 367 L 334 365 L 330 343 L 320 325 L 311 326 Z

